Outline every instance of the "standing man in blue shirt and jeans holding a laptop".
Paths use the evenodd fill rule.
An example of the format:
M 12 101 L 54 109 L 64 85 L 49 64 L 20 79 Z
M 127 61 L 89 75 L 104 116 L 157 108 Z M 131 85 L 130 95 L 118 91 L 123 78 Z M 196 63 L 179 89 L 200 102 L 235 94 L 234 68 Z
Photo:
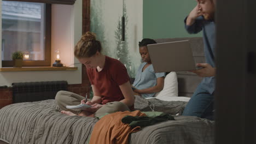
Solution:
M 203 77 L 196 91 L 189 100 L 182 115 L 197 116 L 213 120 L 213 102 L 215 90 L 215 23 L 216 0 L 196 0 L 196 7 L 185 18 L 185 29 L 190 34 L 203 32 L 203 44 L 206 63 L 197 63 L 201 69 L 191 72 Z

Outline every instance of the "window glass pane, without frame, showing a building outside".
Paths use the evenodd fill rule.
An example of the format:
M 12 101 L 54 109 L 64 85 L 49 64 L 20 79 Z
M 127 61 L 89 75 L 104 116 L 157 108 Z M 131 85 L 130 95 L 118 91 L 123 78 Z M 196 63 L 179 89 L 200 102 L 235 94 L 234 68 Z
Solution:
M 2 61 L 22 51 L 30 61 L 44 61 L 43 3 L 2 1 Z

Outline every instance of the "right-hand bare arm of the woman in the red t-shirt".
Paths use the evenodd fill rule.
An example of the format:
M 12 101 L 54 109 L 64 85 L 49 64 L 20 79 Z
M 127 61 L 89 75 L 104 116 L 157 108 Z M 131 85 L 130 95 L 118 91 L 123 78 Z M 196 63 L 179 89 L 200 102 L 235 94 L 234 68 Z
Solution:
M 134 104 L 135 97 L 132 92 L 130 81 L 127 81 L 124 84 L 120 85 L 119 88 L 124 95 L 124 99 L 120 100 L 120 102 L 126 104 L 128 107 L 132 106 Z

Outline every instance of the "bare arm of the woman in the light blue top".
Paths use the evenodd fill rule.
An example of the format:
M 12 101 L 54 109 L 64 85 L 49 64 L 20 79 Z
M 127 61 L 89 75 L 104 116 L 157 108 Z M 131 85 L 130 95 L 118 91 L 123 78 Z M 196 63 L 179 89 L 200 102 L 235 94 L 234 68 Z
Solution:
M 164 80 L 165 77 L 158 77 L 158 79 L 156 79 L 156 86 L 145 89 L 135 89 L 134 92 L 139 94 L 160 92 L 162 88 L 164 88 Z

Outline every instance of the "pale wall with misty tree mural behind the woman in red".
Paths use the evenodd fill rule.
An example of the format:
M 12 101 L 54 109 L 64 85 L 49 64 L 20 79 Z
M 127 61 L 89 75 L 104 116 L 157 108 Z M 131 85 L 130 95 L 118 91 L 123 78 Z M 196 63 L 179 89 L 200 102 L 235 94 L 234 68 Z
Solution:
M 138 50 L 138 41 L 142 40 L 143 30 L 143 0 L 125 1 L 127 12 L 127 27 L 125 29 L 127 49 L 131 62 L 131 69 L 128 73 L 135 77 L 134 71 L 137 71 L 141 64 L 141 56 Z M 114 5 L 114 7 L 113 7 Z M 91 1 L 91 27 L 90 31 L 96 33 L 97 39 L 101 41 L 104 53 L 109 57 L 117 58 L 117 29 L 118 23 L 123 16 L 123 1 L 120 0 L 94 0 Z M 125 53 L 125 52 L 124 52 Z M 123 62 L 125 64 L 125 62 Z M 129 62 L 127 62 L 129 63 Z

